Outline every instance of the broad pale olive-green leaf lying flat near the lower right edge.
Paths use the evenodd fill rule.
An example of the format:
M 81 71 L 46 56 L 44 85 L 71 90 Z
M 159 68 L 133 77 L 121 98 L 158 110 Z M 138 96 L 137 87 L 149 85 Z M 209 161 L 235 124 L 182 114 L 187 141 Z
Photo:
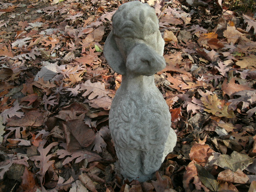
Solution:
M 253 157 L 233 151 L 231 155 L 220 155 L 214 164 L 236 172 L 238 169 L 244 170 L 253 160 Z

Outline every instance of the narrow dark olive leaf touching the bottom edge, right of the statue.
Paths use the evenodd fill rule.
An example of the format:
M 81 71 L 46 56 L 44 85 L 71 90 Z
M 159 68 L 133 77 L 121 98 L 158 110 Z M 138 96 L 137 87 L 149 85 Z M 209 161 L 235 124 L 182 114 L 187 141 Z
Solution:
M 198 164 L 195 164 L 198 177 L 200 181 L 206 186 L 209 190 L 218 192 L 220 188 L 220 184 L 214 178 L 212 174 L 210 174 L 204 167 L 201 167 Z

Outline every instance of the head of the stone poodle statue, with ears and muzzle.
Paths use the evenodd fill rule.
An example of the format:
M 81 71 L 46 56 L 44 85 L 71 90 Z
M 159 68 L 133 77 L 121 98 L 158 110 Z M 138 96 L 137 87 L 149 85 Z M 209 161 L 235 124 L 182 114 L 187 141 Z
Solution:
M 152 76 L 166 66 L 158 18 L 148 4 L 132 1 L 121 5 L 112 16 L 112 26 L 104 56 L 115 72 Z

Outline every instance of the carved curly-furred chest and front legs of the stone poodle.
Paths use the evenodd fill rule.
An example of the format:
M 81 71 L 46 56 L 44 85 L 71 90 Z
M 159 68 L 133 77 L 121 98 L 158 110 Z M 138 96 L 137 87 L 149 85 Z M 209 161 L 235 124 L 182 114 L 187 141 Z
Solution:
M 151 178 L 158 170 L 171 125 L 162 94 L 141 94 L 124 96 L 117 92 L 110 110 L 109 126 L 120 172 L 129 180 L 138 175 Z

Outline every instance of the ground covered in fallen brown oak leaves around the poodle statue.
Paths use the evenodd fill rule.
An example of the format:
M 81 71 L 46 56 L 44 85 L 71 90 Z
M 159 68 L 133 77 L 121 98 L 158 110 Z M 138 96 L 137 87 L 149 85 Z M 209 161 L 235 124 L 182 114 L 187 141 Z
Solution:
M 125 2 L 0 0 L 0 192 L 256 191 L 255 2 L 147 2 L 178 141 L 143 183 L 115 174 L 108 128 L 121 75 L 102 50 Z

